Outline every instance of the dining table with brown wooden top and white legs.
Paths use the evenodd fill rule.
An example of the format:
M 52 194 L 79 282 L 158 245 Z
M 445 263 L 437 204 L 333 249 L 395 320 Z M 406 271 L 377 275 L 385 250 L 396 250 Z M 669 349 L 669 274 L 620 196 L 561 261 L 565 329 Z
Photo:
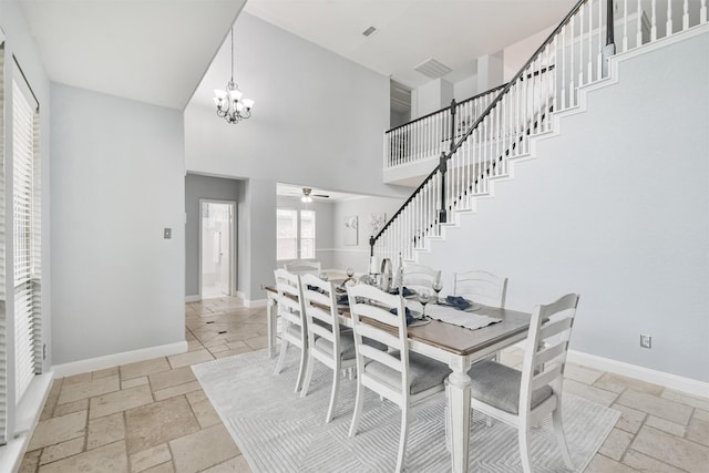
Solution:
M 268 353 L 276 354 L 277 296 L 275 286 L 266 287 Z M 448 407 L 450 410 L 450 453 L 452 471 L 467 472 L 470 419 L 471 419 L 471 366 L 503 348 L 510 347 L 527 336 L 531 313 L 477 305 L 474 313 L 500 319 L 499 322 L 471 330 L 461 326 L 430 320 L 425 325 L 409 327 L 409 349 L 446 363 L 452 372 L 448 378 Z M 352 327 L 349 308 L 338 306 L 340 322 Z

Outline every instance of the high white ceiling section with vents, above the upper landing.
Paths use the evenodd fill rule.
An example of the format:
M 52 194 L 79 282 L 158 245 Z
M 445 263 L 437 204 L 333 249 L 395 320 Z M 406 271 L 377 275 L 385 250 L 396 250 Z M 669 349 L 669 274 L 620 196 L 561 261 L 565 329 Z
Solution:
M 248 0 L 245 11 L 409 86 L 434 58 L 458 82 L 473 60 L 556 25 L 576 0 Z M 369 27 L 377 31 L 362 32 Z

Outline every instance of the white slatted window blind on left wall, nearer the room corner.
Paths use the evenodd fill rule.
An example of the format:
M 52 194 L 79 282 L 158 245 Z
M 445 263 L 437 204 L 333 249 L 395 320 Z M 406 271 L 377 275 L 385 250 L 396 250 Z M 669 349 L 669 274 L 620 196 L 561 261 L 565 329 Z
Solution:
M 23 84 L 24 85 L 24 84 Z M 12 210 L 14 275 L 14 388 L 19 402 L 40 372 L 38 114 L 12 81 Z

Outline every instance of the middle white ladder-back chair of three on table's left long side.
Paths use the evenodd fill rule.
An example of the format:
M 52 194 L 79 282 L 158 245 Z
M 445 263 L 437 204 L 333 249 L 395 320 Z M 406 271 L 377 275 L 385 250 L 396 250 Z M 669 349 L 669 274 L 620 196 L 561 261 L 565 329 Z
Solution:
M 342 370 L 353 369 L 354 338 L 352 330 L 341 327 L 337 312 L 335 285 L 314 275 L 300 276 L 308 332 L 308 361 L 300 397 L 308 394 L 315 360 L 332 370 L 330 405 L 325 422 L 330 422 L 337 402 Z

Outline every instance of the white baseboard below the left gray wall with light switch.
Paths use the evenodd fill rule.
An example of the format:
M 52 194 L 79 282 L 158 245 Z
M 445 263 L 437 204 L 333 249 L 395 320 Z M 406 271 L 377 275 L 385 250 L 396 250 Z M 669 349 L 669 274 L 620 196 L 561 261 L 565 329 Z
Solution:
M 124 351 L 115 354 L 106 354 L 104 357 L 90 358 L 88 360 L 72 361 L 71 363 L 55 364 L 52 367 L 52 371 L 54 372 L 54 378 L 64 378 L 89 371 L 113 368 L 121 364 L 145 361 L 152 358 L 184 353 L 185 351 L 187 351 L 187 342 L 183 340 L 175 343 L 142 348 L 140 350 Z

